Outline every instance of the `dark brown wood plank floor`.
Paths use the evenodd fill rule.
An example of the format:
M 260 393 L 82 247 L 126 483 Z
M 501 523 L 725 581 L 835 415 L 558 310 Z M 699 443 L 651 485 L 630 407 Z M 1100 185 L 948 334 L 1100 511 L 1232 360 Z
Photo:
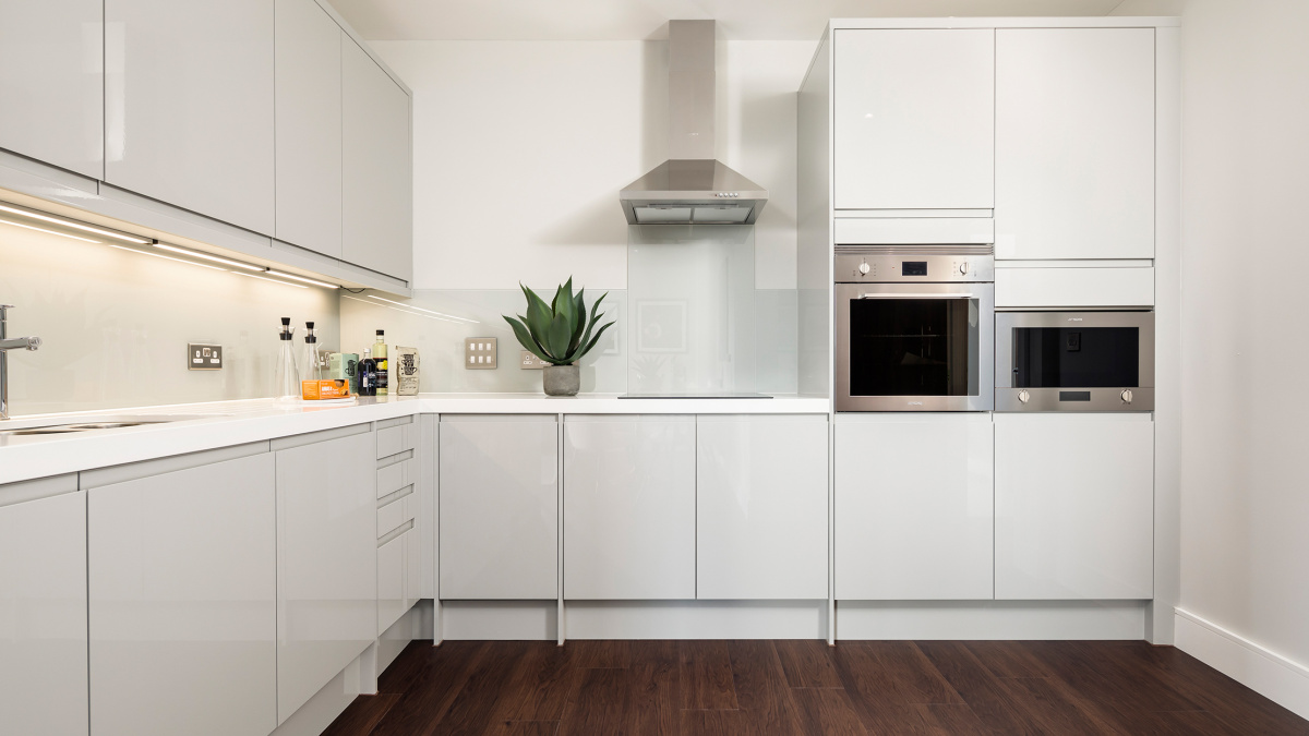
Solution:
M 1305 735 L 1144 642 L 414 642 L 331 736 Z

